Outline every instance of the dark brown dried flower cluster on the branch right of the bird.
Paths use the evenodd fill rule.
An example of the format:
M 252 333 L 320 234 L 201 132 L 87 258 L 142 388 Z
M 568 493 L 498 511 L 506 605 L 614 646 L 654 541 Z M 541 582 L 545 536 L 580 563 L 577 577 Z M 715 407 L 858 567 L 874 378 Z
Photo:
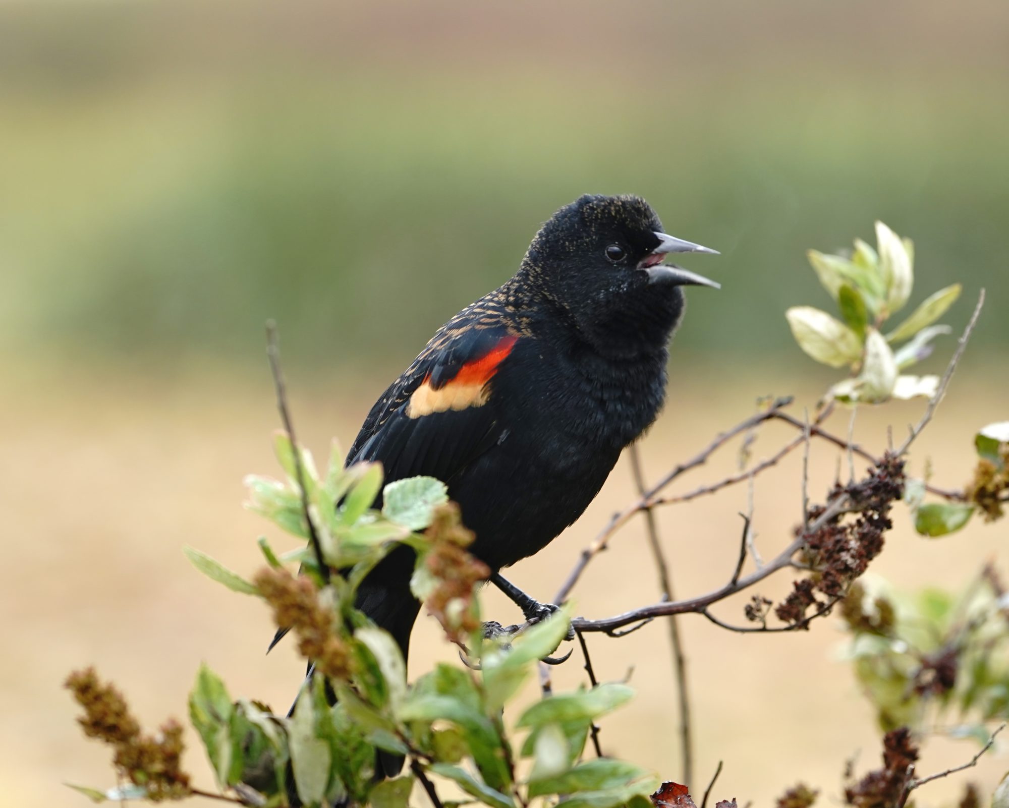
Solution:
M 845 596 L 852 583 L 883 550 L 884 534 L 893 527 L 890 508 L 904 492 L 904 461 L 887 454 L 870 475 L 861 482 L 836 486 L 830 499 L 845 495 L 851 505 L 819 530 L 806 536 L 804 561 L 815 572 L 810 578 L 795 581 L 793 591 L 778 605 L 775 614 L 791 624 L 806 619 L 810 608 L 821 608 Z M 810 508 L 809 520 L 819 518 L 825 506 Z M 854 520 L 845 516 L 856 512 Z M 796 529 L 796 535 L 802 528 Z M 821 602 L 816 593 L 827 597 Z

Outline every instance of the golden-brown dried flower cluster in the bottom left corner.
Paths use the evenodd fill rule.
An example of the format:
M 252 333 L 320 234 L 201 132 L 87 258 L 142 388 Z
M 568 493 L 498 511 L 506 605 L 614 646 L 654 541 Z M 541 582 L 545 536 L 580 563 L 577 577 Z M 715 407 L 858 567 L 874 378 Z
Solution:
M 75 671 L 65 684 L 84 708 L 78 719 L 84 733 L 112 745 L 116 768 L 131 783 L 146 788 L 151 801 L 190 796 L 189 775 L 182 771 L 185 744 L 178 721 L 162 724 L 160 737 L 142 734 L 122 694 L 101 682 L 94 668 Z

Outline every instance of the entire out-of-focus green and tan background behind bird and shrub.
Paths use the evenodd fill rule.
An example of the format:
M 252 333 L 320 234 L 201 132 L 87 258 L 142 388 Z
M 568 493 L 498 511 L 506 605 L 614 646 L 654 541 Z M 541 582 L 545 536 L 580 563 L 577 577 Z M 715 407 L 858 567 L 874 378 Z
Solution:
M 262 655 L 261 605 L 180 553 L 257 564 L 266 526 L 240 503 L 242 475 L 273 468 L 263 322 L 279 323 L 303 437 L 317 453 L 331 436 L 347 445 L 433 330 L 585 192 L 645 196 L 670 232 L 722 253 L 691 263 L 723 290 L 690 295 L 670 402 L 644 444 L 653 477 L 758 395 L 815 401 L 833 379 L 783 317 L 828 303 L 804 251 L 871 240 L 880 218 L 916 242 L 912 303 L 962 281 L 946 318 L 960 328 L 988 288 L 915 461 L 932 456 L 942 483 L 965 482 L 975 429 L 1009 408 L 1007 82 L 1009 5 L 988 0 L 0 2 L 3 799 L 79 805 L 62 781 L 110 784 L 61 690 L 72 667 L 97 664 L 150 725 L 185 713 L 200 660 L 235 695 L 281 709 L 294 694 L 291 649 Z M 900 433 L 919 412 L 868 413 L 859 437 L 880 448 L 888 425 Z M 769 430 L 757 451 L 785 437 Z M 814 494 L 835 461 L 814 453 Z M 766 556 L 798 516 L 797 463 L 758 486 Z M 631 495 L 622 461 L 517 582 L 548 597 Z M 744 506 L 735 491 L 661 515 L 680 594 L 725 578 Z M 876 570 L 959 588 L 984 559 L 1007 561 L 1006 539 L 974 524 L 925 542 L 901 514 Z M 654 600 L 654 579 L 636 523 L 576 591 L 580 610 Z M 422 623 L 415 671 L 452 657 Z M 697 780 L 723 760 L 719 797 L 769 805 L 803 779 L 829 804 L 847 759 L 876 764 L 830 621 L 779 637 L 683 627 Z M 605 746 L 675 777 L 663 626 L 591 644 L 601 676 L 633 666 L 640 690 L 605 722 Z M 582 675 L 572 662 L 556 680 Z M 973 752 L 934 743 L 921 771 Z M 189 762 L 209 786 L 197 749 Z M 991 756 L 971 777 L 990 792 L 1006 768 Z M 948 802 L 961 785 L 921 800 Z

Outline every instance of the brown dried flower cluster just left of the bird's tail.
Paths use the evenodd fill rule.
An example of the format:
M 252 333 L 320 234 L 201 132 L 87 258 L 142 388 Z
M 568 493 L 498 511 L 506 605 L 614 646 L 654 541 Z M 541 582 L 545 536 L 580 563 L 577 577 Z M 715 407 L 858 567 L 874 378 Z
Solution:
M 274 622 L 298 637 L 298 652 L 306 660 L 331 679 L 350 677 L 350 652 L 338 633 L 336 614 L 320 602 L 311 578 L 266 567 L 252 582 L 272 607 Z

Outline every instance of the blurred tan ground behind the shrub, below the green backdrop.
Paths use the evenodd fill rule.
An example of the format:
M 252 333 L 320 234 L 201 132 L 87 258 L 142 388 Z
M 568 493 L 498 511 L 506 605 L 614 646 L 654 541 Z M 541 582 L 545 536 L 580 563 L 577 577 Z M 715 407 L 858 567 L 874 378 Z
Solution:
M 941 484 L 956 486 L 967 478 L 975 428 L 1006 416 L 1009 382 L 1004 376 L 986 380 L 983 366 L 969 357 L 917 447 L 917 470 L 926 453 L 941 458 Z M 802 403 L 811 405 L 818 388 L 788 377 L 805 368 L 798 354 L 794 368 L 730 373 L 721 380 L 695 370 L 689 384 L 674 380 L 669 406 L 644 444 L 650 476 L 691 456 L 718 429 L 746 417 L 758 394 L 797 392 L 793 412 L 801 414 Z M 343 388 L 312 387 L 307 373 L 292 369 L 289 375 L 297 424 L 317 455 L 331 435 L 349 443 L 383 380 L 376 376 Z M 204 579 L 180 552 L 191 544 L 242 573 L 257 566 L 255 537 L 276 532 L 242 510 L 241 479 L 251 471 L 274 471 L 269 433 L 276 417 L 265 369 L 259 376 L 232 378 L 219 368 L 191 368 L 185 375 L 152 381 L 81 364 L 76 370 L 15 368 L 8 379 L 12 383 L 0 392 L 0 512 L 6 531 L 0 588 L 5 632 L 0 792 L 6 805 L 81 805 L 83 798 L 61 781 L 107 786 L 112 776 L 106 751 L 86 741 L 75 725 L 74 706 L 61 688 L 71 668 L 97 665 L 123 688 L 149 726 L 169 715 L 185 717 L 186 695 L 201 661 L 225 678 L 234 696 L 255 695 L 284 709 L 294 695 L 301 665 L 290 643 L 263 656 L 270 628 L 262 605 Z M 860 418 L 859 439 L 879 448 L 888 422 L 900 436 L 920 409 L 901 405 L 867 414 Z M 833 426 L 843 432 L 844 419 Z M 768 429 L 756 456 L 771 453 L 787 437 L 784 427 Z M 814 497 L 832 477 L 835 458 L 827 447 L 814 451 Z M 717 479 L 734 459 L 727 452 L 686 479 L 682 489 Z M 799 457 L 791 458 L 758 483 L 756 526 L 765 558 L 786 541 L 799 512 Z M 512 577 L 550 597 L 578 551 L 631 494 L 622 460 L 583 518 Z M 663 542 L 673 559 L 679 595 L 707 591 L 730 574 L 745 496 L 737 488 L 662 511 Z M 1005 523 L 985 527 L 976 522 L 960 536 L 932 542 L 912 535 L 902 509 L 896 523 L 874 571 L 897 584 L 960 587 L 983 560 L 1009 561 Z M 603 616 L 653 602 L 655 577 L 642 523 L 635 522 L 577 588 L 579 611 Z M 780 594 L 786 579 L 761 592 Z M 496 594 L 486 602 L 488 616 L 517 616 Z M 718 613 L 738 620 L 741 608 L 742 601 L 721 604 Z M 696 616 L 687 616 L 682 625 L 698 741 L 696 780 L 706 782 L 723 760 L 718 797 L 770 805 L 776 794 L 802 779 L 824 789 L 823 804 L 835 804 L 844 761 L 861 751 L 862 771 L 876 764 L 871 712 L 848 668 L 833 659 L 840 642 L 835 620 L 818 622 L 808 633 L 765 637 L 728 633 Z M 676 702 L 666 643 L 660 622 L 622 640 L 590 639 L 600 678 L 622 678 L 633 666 L 631 681 L 638 689 L 630 707 L 604 721 L 605 748 L 678 777 Z M 455 657 L 426 618 L 413 649 L 415 675 L 434 659 Z M 570 687 L 583 676 L 577 655 L 555 670 L 558 687 Z M 919 771 L 966 761 L 974 751 L 969 742 L 935 742 Z M 187 765 L 201 786 L 211 787 L 199 749 L 188 752 Z M 990 756 L 970 777 L 990 793 L 1006 768 L 1004 756 Z M 964 780 L 936 785 L 921 795 L 922 803 L 951 798 Z

